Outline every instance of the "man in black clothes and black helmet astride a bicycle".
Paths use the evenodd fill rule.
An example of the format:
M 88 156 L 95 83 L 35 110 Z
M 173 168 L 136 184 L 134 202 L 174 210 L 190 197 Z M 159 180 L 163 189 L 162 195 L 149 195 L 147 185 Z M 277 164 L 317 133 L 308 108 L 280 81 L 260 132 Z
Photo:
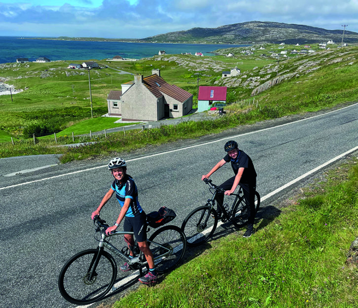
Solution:
M 240 150 L 238 144 L 234 140 L 227 141 L 224 145 L 224 150 L 227 153 L 225 157 L 220 160 L 214 168 L 201 177 L 209 178 L 216 170 L 224 166 L 226 163 L 231 162 L 232 170 L 235 176 L 223 182 L 220 187 L 225 190 L 225 195 L 230 196 L 235 192 L 235 189 L 240 185 L 244 192 L 244 198 L 248 206 L 248 227 L 244 234 L 244 238 L 250 238 L 253 233 L 253 222 L 255 220 L 255 191 L 256 191 L 256 171 L 249 155 Z M 224 201 L 223 194 L 216 194 L 216 201 L 222 205 Z M 217 206 L 217 214 L 221 216 L 221 209 Z

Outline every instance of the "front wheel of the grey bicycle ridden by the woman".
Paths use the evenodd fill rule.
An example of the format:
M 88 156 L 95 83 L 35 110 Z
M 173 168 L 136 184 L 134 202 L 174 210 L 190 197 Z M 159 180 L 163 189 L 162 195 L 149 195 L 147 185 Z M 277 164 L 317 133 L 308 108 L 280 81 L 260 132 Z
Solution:
M 117 276 L 117 265 L 106 251 L 101 252 L 95 277 L 92 281 L 88 280 L 88 269 L 98 252 L 98 249 L 83 250 L 63 266 L 58 287 L 68 302 L 77 305 L 91 304 L 102 299 L 112 288 Z

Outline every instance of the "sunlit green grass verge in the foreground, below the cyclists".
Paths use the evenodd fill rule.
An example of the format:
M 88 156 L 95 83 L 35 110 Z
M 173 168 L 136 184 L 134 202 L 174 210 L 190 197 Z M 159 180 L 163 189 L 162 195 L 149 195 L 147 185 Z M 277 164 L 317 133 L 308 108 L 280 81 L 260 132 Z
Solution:
M 265 216 L 250 239 L 237 231 L 154 287 L 141 286 L 113 308 L 355 308 L 358 268 L 346 253 L 357 238 L 358 165 Z

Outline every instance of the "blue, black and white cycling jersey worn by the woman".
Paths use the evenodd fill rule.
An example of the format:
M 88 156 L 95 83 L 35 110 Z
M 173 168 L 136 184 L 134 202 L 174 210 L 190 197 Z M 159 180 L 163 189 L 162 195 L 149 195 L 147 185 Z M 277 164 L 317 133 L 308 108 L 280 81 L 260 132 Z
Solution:
M 118 180 L 114 180 L 111 189 L 115 191 L 115 196 L 122 207 L 127 198 L 132 199 L 126 213 L 127 217 L 134 217 L 137 213 L 143 211 L 138 201 L 137 185 L 132 178 L 127 176 L 126 181 L 123 184 Z

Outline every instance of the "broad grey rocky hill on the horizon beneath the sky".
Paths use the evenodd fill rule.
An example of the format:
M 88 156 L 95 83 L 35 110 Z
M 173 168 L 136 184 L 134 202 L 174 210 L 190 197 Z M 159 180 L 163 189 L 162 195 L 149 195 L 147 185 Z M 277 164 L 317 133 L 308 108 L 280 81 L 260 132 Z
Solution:
M 342 41 L 342 30 L 325 30 L 304 25 L 251 21 L 218 28 L 192 28 L 143 38 L 148 42 L 205 42 L 205 43 L 320 43 Z M 344 42 L 358 43 L 358 33 L 345 31 Z

